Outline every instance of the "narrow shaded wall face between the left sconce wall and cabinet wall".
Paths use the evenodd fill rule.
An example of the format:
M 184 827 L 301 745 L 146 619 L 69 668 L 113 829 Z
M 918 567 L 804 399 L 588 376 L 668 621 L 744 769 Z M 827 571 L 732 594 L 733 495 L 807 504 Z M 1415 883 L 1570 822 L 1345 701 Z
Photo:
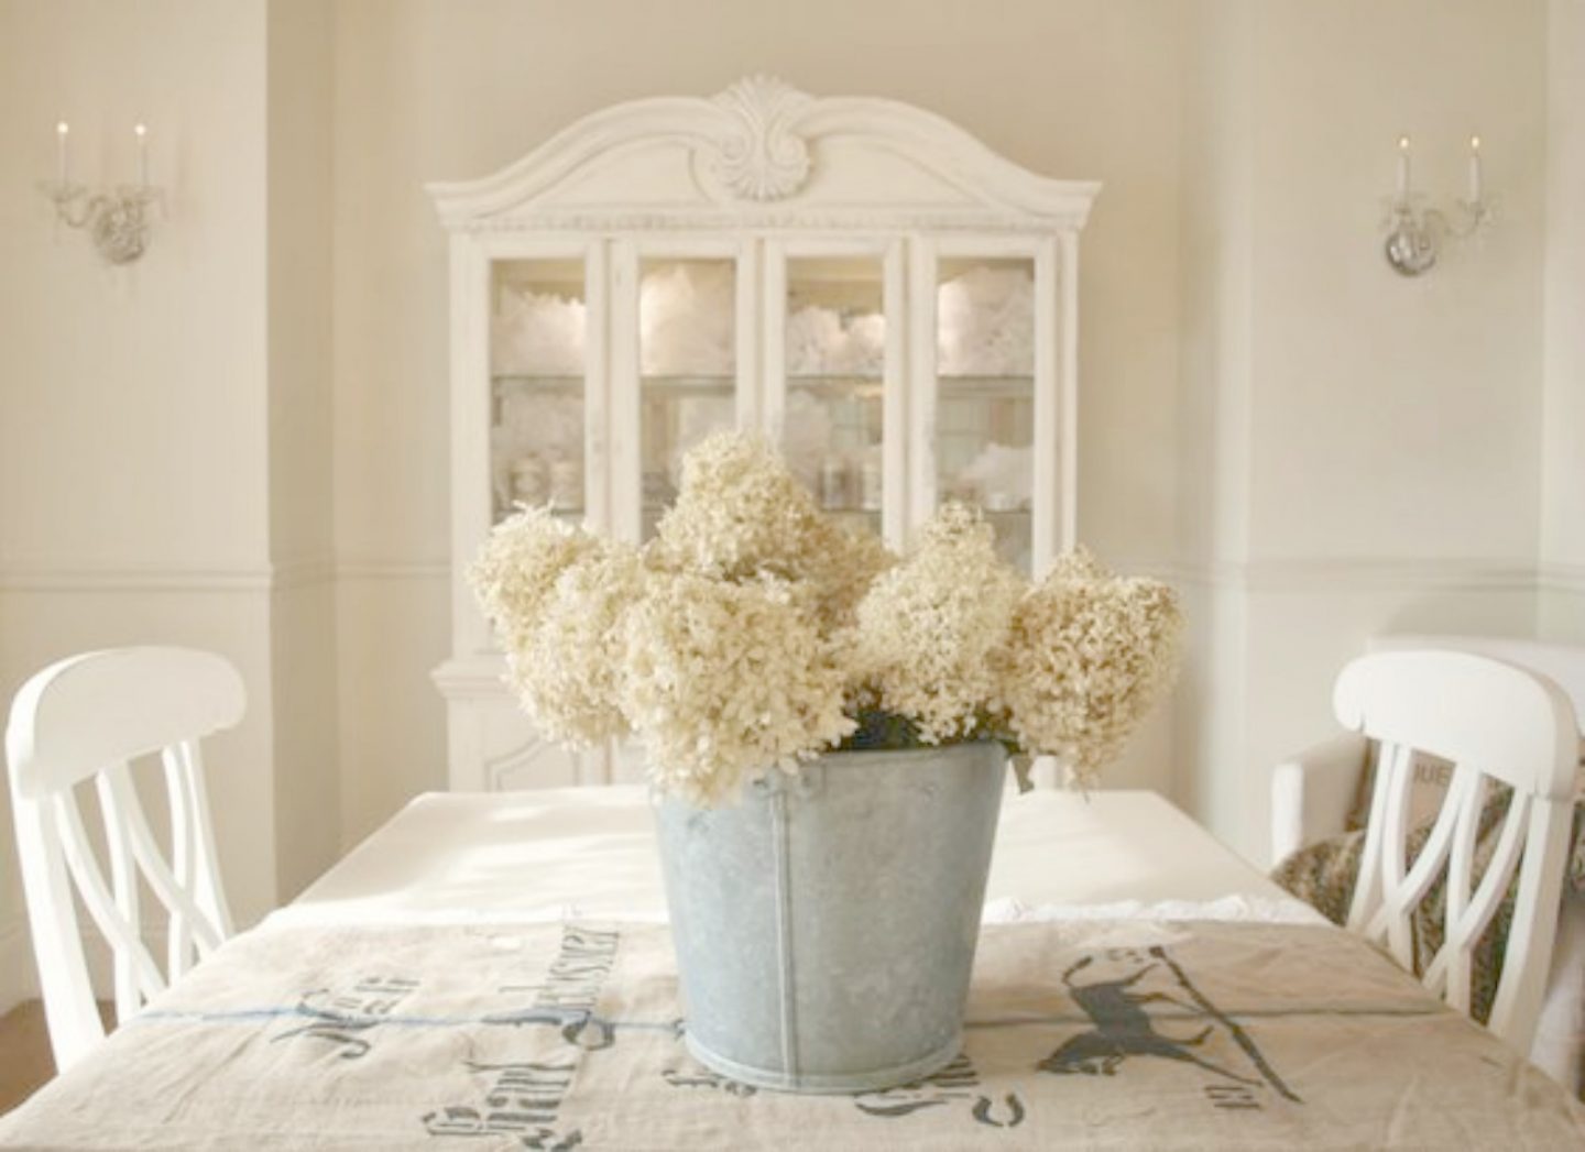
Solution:
M 269 0 L 266 36 L 269 692 L 276 895 L 341 849 L 331 342 L 331 8 Z

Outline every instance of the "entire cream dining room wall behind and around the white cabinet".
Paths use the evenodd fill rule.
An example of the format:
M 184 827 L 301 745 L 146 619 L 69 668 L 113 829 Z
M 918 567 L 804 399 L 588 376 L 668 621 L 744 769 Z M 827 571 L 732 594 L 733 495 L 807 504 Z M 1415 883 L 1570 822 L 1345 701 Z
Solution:
M 1330 730 L 1371 632 L 1525 632 L 1537 601 L 1577 602 L 1537 597 L 1537 569 L 1585 556 L 1579 223 L 1542 195 L 1577 181 L 1556 33 L 1580 2 L 0 0 L 0 691 L 92 645 L 233 656 L 254 710 L 217 748 L 217 822 L 250 913 L 442 788 L 447 263 L 423 184 L 770 71 L 1105 181 L 1079 532 L 1190 615 L 1173 707 L 1110 780 L 1260 860 L 1265 765 Z M 33 182 L 59 117 L 105 179 L 149 120 L 173 198 L 139 265 L 52 227 Z M 1476 130 L 1496 227 L 1400 280 L 1396 135 L 1446 204 Z

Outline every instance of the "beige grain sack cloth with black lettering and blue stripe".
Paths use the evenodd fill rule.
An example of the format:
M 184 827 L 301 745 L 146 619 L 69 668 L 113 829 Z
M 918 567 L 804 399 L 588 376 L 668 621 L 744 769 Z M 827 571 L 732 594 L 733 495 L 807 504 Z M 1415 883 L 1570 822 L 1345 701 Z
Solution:
M 265 925 L 0 1146 L 1585 1147 L 1585 1108 L 1330 925 L 987 925 L 962 1055 L 888 1092 L 754 1090 L 682 1028 L 659 924 Z

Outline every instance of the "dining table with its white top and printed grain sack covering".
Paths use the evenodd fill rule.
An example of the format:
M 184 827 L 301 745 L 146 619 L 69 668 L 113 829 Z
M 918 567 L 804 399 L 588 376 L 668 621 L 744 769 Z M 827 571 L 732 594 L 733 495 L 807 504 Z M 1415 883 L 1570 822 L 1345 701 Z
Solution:
M 683 1044 L 651 803 L 415 797 L 0 1147 L 1585 1147 L 1571 1093 L 1148 791 L 1008 791 L 946 1068 L 737 1084 Z

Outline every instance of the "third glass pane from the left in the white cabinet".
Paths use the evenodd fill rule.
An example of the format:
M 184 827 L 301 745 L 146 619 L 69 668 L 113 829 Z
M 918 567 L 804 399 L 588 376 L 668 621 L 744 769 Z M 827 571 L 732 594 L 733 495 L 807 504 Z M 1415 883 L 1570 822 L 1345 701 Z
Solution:
M 829 513 L 880 534 L 886 279 L 878 257 L 786 261 L 783 452 Z

